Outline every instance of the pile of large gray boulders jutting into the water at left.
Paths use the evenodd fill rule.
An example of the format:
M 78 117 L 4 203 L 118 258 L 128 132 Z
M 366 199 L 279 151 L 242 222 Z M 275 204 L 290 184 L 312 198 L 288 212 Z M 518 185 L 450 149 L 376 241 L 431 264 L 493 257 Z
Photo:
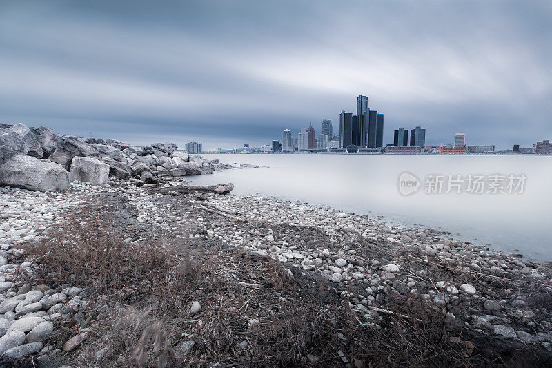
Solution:
M 115 177 L 141 186 L 230 167 L 177 151 L 172 143 L 137 147 L 117 139 L 59 135 L 44 126 L 0 125 L 0 185 L 63 191 L 70 181 L 106 184 Z

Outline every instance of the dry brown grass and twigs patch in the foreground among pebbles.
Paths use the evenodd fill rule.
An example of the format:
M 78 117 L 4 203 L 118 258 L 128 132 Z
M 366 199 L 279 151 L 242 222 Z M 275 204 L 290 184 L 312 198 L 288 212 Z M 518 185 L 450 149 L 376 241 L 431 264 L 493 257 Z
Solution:
M 34 282 L 89 291 L 88 309 L 63 321 L 66 332 L 52 342 L 59 346 L 77 331 L 90 338 L 56 364 L 483 367 L 512 356 L 489 354 L 415 294 L 389 294 L 387 313 L 366 317 L 315 275 L 292 276 L 241 249 L 199 249 L 186 240 L 126 243 L 128 235 L 113 225 L 82 211 L 30 249 L 41 264 Z M 194 300 L 203 309 L 191 315 Z M 179 354 L 188 340 L 193 349 Z

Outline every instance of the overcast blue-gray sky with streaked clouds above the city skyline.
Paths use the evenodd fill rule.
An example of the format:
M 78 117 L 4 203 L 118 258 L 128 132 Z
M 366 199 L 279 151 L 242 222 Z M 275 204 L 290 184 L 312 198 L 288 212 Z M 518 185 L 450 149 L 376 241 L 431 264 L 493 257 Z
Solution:
M 552 139 L 552 1 L 0 0 L 0 122 L 230 148 L 360 94 L 384 144 Z

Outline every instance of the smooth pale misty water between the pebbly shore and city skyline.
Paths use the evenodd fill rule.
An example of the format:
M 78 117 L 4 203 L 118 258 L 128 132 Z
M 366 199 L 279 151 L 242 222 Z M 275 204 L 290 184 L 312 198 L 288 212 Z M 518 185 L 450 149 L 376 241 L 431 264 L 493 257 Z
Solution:
M 264 166 L 193 177 L 194 184 L 233 182 L 233 194 L 286 200 L 362 213 L 397 225 L 430 226 L 455 238 L 491 244 L 506 253 L 552 260 L 552 157 L 452 155 L 204 155 L 225 164 Z M 399 175 L 422 181 L 404 197 Z M 424 193 L 426 175 L 525 174 L 522 194 Z M 188 178 L 187 178 L 188 179 Z

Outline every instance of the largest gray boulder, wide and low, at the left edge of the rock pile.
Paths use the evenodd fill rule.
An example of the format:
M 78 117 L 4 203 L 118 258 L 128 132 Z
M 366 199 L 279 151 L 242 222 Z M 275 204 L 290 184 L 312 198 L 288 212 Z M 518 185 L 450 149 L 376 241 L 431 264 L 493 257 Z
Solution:
M 69 186 L 69 173 L 54 162 L 17 155 L 0 165 L 0 185 L 30 191 L 64 191 Z

